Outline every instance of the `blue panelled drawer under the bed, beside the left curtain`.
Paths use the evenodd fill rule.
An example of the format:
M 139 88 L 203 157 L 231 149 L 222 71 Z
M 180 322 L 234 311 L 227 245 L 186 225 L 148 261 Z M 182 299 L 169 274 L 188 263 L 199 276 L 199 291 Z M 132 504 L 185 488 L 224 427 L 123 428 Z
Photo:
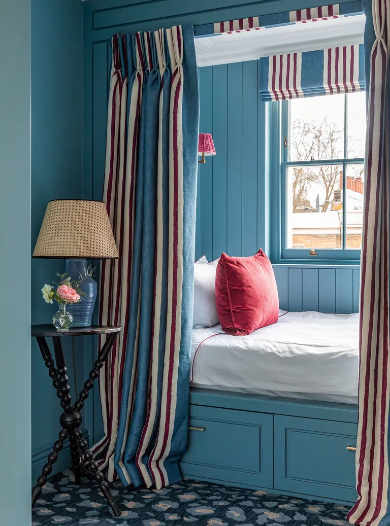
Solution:
M 183 476 L 273 487 L 272 414 L 189 406 Z

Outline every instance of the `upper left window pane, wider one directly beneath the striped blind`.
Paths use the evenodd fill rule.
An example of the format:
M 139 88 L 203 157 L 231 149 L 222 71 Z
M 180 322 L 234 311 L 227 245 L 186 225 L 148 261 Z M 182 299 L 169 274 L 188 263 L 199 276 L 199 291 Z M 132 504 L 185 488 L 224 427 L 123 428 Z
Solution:
M 292 161 L 344 158 L 344 95 L 290 101 Z

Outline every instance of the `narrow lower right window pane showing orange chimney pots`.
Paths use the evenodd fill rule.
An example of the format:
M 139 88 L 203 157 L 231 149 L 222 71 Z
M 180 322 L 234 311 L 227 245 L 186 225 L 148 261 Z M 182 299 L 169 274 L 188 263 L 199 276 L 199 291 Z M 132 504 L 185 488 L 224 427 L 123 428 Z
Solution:
M 346 166 L 346 248 L 362 247 L 364 165 Z

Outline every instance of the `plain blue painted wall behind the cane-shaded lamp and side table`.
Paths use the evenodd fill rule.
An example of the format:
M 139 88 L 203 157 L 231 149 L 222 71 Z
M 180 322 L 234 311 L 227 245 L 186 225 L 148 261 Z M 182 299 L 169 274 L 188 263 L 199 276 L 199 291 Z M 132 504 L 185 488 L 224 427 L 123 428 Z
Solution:
M 34 0 L 32 3 L 32 229 L 34 248 L 47 202 L 81 198 L 83 126 L 83 3 Z M 28 264 L 31 261 L 28 253 Z M 32 322 L 47 323 L 55 305 L 42 299 L 44 283 L 63 271 L 61 260 L 32 260 Z M 67 342 L 71 343 L 71 342 Z M 35 479 L 59 431 L 61 407 L 35 340 L 32 342 L 32 463 Z M 84 378 L 83 341 L 75 339 L 78 389 Z M 66 349 L 69 376 L 73 367 Z M 72 381 L 72 397 L 74 385 Z M 53 472 L 69 466 L 67 447 Z

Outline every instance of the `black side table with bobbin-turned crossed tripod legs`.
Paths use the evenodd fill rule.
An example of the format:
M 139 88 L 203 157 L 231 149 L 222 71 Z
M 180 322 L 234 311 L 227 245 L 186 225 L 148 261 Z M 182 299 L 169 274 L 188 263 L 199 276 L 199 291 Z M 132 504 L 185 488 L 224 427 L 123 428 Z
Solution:
M 41 349 L 42 357 L 45 360 L 45 365 L 49 370 L 49 376 L 53 380 L 53 386 L 57 389 L 57 397 L 61 400 L 61 407 L 64 412 L 59 417 L 59 423 L 62 430 L 59 432 L 58 440 L 54 443 L 53 452 L 47 457 L 47 463 L 42 468 L 42 475 L 38 477 L 37 485 L 32 491 L 32 505 L 34 506 L 39 495 L 42 493 L 42 487 L 46 484 L 47 476 L 52 472 L 53 464 L 58 458 L 59 451 L 64 447 L 64 440 L 69 437 L 71 447 L 72 468 L 75 476 L 75 483 L 81 484 L 81 453 L 84 459 L 88 461 L 85 469 L 93 475 L 99 488 L 106 498 L 108 504 L 114 512 L 115 517 L 119 517 L 121 512 L 113 499 L 109 489 L 108 482 L 104 474 L 99 471 L 97 462 L 95 462 L 93 454 L 88 449 L 88 442 L 83 438 L 80 426 L 83 417 L 80 412 L 83 409 L 84 401 L 88 398 L 88 392 L 93 388 L 94 380 L 99 376 L 99 370 L 103 367 L 104 361 L 107 359 L 111 351 L 118 333 L 122 327 L 114 326 L 97 326 L 70 328 L 67 331 L 57 331 L 53 325 L 33 325 L 31 328 L 31 336 L 34 336 L 38 342 L 39 349 Z M 89 373 L 88 380 L 84 383 L 84 389 L 80 391 L 79 398 L 72 406 L 72 398 L 69 394 L 71 387 L 69 386 L 68 377 L 66 375 L 66 363 L 64 352 L 62 348 L 62 338 L 68 336 L 89 336 L 107 334 L 107 339 L 99 352 L 94 368 Z M 45 338 L 53 338 L 54 354 L 56 367 L 51 352 L 47 346 Z

